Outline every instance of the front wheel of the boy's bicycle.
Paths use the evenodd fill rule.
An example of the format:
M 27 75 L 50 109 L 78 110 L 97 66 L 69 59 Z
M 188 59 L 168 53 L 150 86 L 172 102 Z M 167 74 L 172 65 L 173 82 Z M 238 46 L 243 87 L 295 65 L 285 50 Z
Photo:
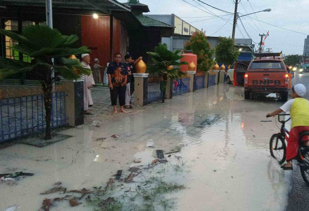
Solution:
M 270 138 L 269 151 L 280 164 L 286 160 L 286 143 L 280 133 L 273 134 Z

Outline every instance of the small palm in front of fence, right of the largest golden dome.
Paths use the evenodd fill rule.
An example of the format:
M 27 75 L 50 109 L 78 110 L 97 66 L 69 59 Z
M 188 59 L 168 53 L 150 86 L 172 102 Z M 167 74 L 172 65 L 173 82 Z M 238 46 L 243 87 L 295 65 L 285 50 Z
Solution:
M 158 73 L 159 76 L 163 76 L 163 82 L 161 83 L 162 103 L 164 103 L 166 94 L 167 77 L 174 79 L 186 74 L 173 67 L 173 65 L 188 64 L 187 62 L 177 62 L 183 57 L 178 55 L 180 52 L 180 50 L 171 52 L 167 49 L 166 44 L 161 43 L 155 47 L 155 52 L 147 52 L 154 62 L 154 64 L 148 65 L 148 72 Z

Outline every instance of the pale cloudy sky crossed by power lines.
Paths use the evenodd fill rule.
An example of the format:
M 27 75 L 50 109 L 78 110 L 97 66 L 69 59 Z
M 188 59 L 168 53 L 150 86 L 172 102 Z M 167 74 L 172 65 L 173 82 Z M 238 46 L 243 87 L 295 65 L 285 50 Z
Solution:
M 188 23 L 194 22 L 190 23 L 192 26 L 197 27 L 198 29 L 203 28 L 203 30 L 206 31 L 207 36 L 232 36 L 234 15 L 214 9 L 199 2 L 198 0 L 139 1 L 142 4 L 149 6 L 150 12 L 144 14 L 175 14 Z M 201 1 L 230 13 L 234 13 L 235 10 L 233 0 Z M 255 43 L 259 43 L 259 34 L 266 34 L 267 31 L 269 31 L 269 36 L 265 40 L 265 49 L 271 48 L 273 52 L 282 51 L 282 53 L 286 55 L 302 55 L 304 40 L 307 38 L 307 34 L 309 34 L 309 0 L 241 0 L 238 5 L 238 12 L 239 16 L 241 16 L 252 13 L 253 11 L 257 12 L 268 8 L 271 8 L 272 10 L 270 12 L 259 12 L 241 17 L 240 19 L 244 27 L 238 19 L 238 28 L 236 28 L 235 38 L 249 38 L 249 35 Z M 202 10 L 205 10 L 208 13 Z M 226 16 L 220 16 L 221 18 L 218 18 L 215 15 Z M 230 19 L 230 21 L 228 21 L 228 19 Z M 274 26 L 262 23 L 258 20 L 270 23 Z M 278 27 L 286 28 L 288 30 Z M 248 35 L 244 28 L 248 32 Z

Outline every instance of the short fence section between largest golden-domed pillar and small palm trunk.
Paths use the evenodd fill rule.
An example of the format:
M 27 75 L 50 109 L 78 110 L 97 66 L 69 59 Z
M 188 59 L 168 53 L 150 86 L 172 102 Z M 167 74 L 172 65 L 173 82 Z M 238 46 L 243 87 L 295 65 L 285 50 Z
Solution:
M 147 95 L 148 102 L 155 102 L 162 99 L 161 84 L 163 77 L 148 77 Z

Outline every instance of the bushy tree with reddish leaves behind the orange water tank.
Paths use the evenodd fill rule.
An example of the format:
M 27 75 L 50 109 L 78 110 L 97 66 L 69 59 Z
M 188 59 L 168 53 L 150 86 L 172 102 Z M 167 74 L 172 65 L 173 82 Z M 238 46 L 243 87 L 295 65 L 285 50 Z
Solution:
M 191 36 L 191 39 L 184 44 L 184 50 L 193 51 L 197 55 L 197 69 L 201 71 L 208 71 L 214 64 L 212 56 L 214 55 L 214 49 L 210 48 L 210 44 L 207 42 L 206 31 L 196 31 Z

